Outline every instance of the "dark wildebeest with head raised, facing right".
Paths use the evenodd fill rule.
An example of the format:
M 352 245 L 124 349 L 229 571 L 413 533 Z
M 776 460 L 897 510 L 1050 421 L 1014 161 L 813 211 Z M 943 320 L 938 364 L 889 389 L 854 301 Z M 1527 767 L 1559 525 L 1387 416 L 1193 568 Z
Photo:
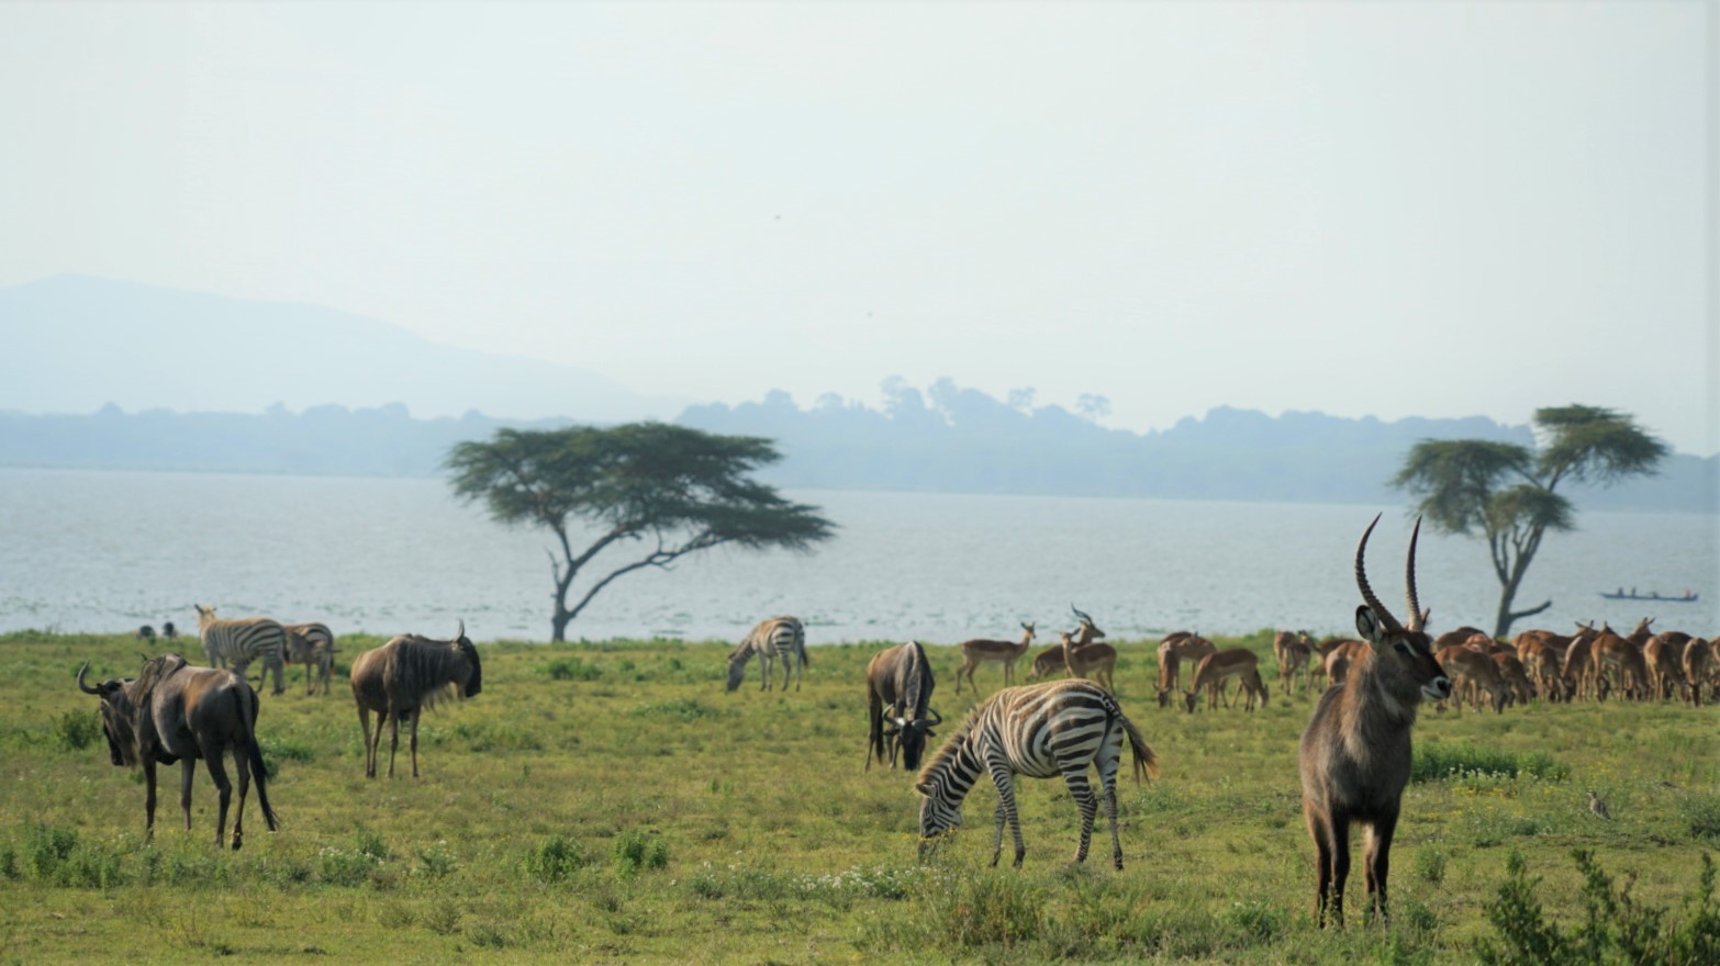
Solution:
M 401 634 L 353 662 L 353 700 L 358 722 L 365 725 L 365 777 L 377 777 L 377 746 L 382 725 L 389 732 L 389 777 L 394 777 L 394 753 L 401 748 L 401 718 L 408 720 L 413 748 L 413 777 L 418 777 L 418 713 L 433 706 L 454 689 L 456 698 L 471 698 L 483 689 L 478 648 L 466 638 L 466 622 L 452 641 L 435 641 L 418 634 Z M 370 734 L 370 712 L 377 712 L 377 734 Z

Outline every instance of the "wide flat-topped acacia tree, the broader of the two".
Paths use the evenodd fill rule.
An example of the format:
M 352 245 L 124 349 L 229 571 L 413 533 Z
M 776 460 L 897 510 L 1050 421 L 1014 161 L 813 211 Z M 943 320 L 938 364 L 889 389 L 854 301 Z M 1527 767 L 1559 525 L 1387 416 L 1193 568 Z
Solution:
M 483 500 L 511 526 L 542 526 L 556 535 L 550 552 L 556 610 L 550 639 L 611 581 L 721 545 L 810 550 L 836 524 L 819 507 L 783 498 L 748 474 L 781 459 L 771 440 L 721 437 L 666 423 L 607 430 L 497 430 L 488 442 L 456 443 L 444 461 L 449 485 L 464 502 Z M 585 521 L 597 538 L 574 550 L 569 524 Z M 574 578 L 604 550 L 643 543 L 643 555 L 616 566 L 583 588 L 569 608 Z

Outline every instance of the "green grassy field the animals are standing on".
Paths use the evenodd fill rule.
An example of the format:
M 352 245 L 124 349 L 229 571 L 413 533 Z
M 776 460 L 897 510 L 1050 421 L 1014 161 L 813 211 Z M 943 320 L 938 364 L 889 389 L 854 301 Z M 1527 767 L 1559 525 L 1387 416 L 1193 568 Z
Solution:
M 174 767 L 143 844 L 141 775 L 108 765 L 74 684 L 84 660 L 132 674 L 138 641 L 0 638 L 0 963 L 1472 963 L 1500 942 L 1512 861 L 1560 928 L 1584 918 L 1586 849 L 1674 932 L 1701 914 L 1686 897 L 1720 849 L 1720 710 L 1424 713 L 1391 925 L 1319 932 L 1295 765 L 1311 700 L 1275 686 L 1252 715 L 1159 710 L 1152 643 L 1116 641 L 1120 701 L 1164 768 L 1123 786 L 1121 873 L 1103 818 L 1097 859 L 1072 863 L 1075 806 L 1032 780 L 1023 870 L 986 865 L 989 784 L 918 865 L 910 777 L 862 772 L 863 669 L 884 645 L 814 648 L 786 694 L 757 672 L 726 694 L 728 645 L 483 645 L 483 693 L 425 718 L 423 779 L 365 780 L 344 670 L 378 643 L 341 641 L 330 696 L 304 696 L 294 669 L 263 698 L 282 828 L 263 830 L 253 792 L 246 847 L 222 853 L 201 770 L 179 830 Z M 1264 633 L 1219 641 L 1235 645 L 1269 663 Z M 929 651 L 934 706 L 958 718 L 955 650 Z M 979 679 L 1001 684 L 994 665 Z M 1357 846 L 1352 909 L 1361 887 Z

